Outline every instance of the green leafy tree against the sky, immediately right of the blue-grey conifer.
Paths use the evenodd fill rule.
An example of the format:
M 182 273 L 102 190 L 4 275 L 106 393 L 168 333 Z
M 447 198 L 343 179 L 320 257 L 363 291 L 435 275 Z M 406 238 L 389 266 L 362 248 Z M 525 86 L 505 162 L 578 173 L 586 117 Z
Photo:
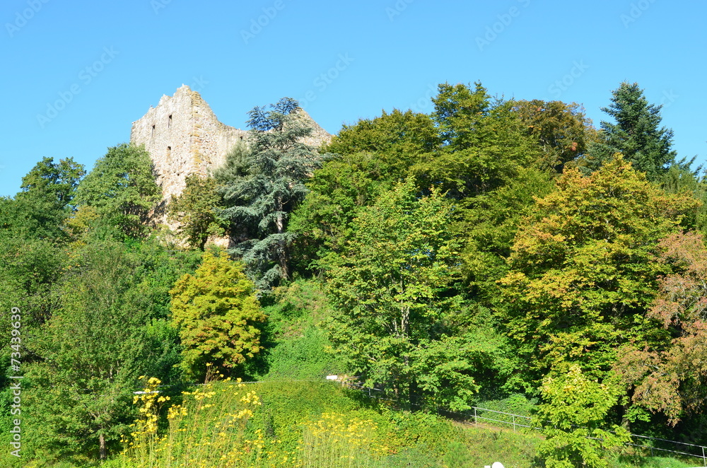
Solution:
M 298 236 L 293 252 L 300 271 L 327 250 L 339 249 L 356 210 L 375 203 L 413 165 L 431 158 L 437 140 L 432 119 L 412 111 L 383 111 L 380 117 L 344 125 L 322 150 L 337 157 L 315 170 L 289 224 Z

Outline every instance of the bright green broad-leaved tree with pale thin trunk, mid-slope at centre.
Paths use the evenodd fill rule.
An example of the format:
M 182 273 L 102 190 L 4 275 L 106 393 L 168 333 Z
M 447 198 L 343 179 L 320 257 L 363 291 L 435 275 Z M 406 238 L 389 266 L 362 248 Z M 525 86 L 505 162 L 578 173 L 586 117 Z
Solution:
M 382 194 L 358 213 L 341 253 L 322 259 L 335 311 L 329 337 L 366 385 L 403 402 L 468 408 L 488 350 L 450 327 L 460 309 L 455 209 L 436 189 L 415 193 L 410 179 Z

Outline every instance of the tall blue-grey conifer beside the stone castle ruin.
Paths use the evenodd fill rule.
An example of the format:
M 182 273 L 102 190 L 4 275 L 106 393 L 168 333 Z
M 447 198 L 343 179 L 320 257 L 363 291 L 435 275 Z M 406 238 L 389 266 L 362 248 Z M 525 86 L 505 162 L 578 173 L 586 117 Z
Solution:
M 270 107 L 250 111 L 247 175 L 225 183 L 227 207 L 219 212 L 230 221 L 232 233 L 257 226 L 257 235 L 240 242 L 233 253 L 261 289 L 290 276 L 288 247 L 294 235 L 287 232 L 288 218 L 307 193 L 304 180 L 321 163 L 315 148 L 302 142 L 312 127 L 297 101 L 282 98 Z

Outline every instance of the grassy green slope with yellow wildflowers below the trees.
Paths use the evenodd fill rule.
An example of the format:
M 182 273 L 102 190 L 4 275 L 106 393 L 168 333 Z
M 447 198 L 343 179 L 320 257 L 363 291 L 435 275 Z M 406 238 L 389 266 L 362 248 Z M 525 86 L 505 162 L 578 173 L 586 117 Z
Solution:
M 323 459 L 329 460 L 331 464 L 327 466 L 332 467 L 480 468 L 499 461 L 506 468 L 525 468 L 537 463 L 534 460 L 540 440 L 537 433 L 513 432 L 493 426 L 474 428 L 431 414 L 397 411 L 387 402 L 366 399 L 359 392 L 325 381 L 325 375 L 344 370 L 325 351 L 329 343 L 319 327 L 329 315 L 325 296 L 315 283 L 296 281 L 276 291 L 275 298 L 274 304 L 267 306 L 267 352 L 247 369 L 250 377 L 264 382 L 240 390 L 233 385 L 216 385 L 218 391 L 214 396 L 203 400 L 213 406 L 204 409 L 202 402 L 201 413 L 193 406 L 180 421 L 180 428 L 188 430 L 174 432 L 169 446 L 169 450 L 189 447 L 189 456 L 197 457 L 200 462 L 163 465 L 158 458 L 153 467 L 229 466 L 218 464 L 220 455 L 219 460 L 211 460 L 218 450 L 240 451 L 239 457 L 245 456 L 245 452 L 249 456 L 259 452 L 262 457 L 257 463 L 244 465 L 255 467 L 320 467 L 325 466 Z M 241 401 L 247 392 L 255 392 L 261 404 L 250 404 L 252 415 L 233 419 L 236 409 L 248 406 Z M 188 399 L 185 397 L 185 401 Z M 501 411 L 526 413 L 529 410 L 525 399 L 489 403 L 493 404 L 493 409 Z M 165 406 L 163 414 L 166 409 Z M 230 432 L 227 431 L 228 443 L 218 442 L 220 439 L 214 432 L 218 421 L 233 424 Z M 224 427 L 228 426 L 226 423 Z M 163 427 L 161 433 L 169 432 Z M 329 437 L 337 434 L 339 440 Z M 214 445 L 204 444 L 209 438 L 213 438 Z M 258 444 L 262 444 L 262 449 Z M 316 452 L 315 447 L 320 452 Z M 356 463 L 361 464 L 351 462 L 349 465 L 350 459 L 339 460 L 337 457 L 343 456 L 341 450 L 353 450 L 355 453 L 349 455 L 355 455 Z M 10 464 L 11 460 L 3 460 L 4 455 L 0 455 L 0 466 L 45 466 L 26 460 L 22 464 Z M 694 466 L 691 463 L 660 457 L 624 457 L 616 460 L 612 468 L 684 468 Z M 134 468 L 139 465 L 129 462 L 125 456 L 117 456 L 104 466 Z M 59 467 L 74 465 L 54 465 L 54 468 Z

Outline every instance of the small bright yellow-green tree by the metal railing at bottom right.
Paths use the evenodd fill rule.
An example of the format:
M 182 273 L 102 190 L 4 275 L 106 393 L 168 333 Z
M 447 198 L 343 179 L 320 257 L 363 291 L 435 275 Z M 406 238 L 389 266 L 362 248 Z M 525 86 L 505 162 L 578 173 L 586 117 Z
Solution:
M 616 425 L 610 430 L 603 428 L 621 389 L 589 380 L 579 365 L 545 378 L 540 392 L 545 402 L 533 424 L 545 435 L 538 453 L 547 468 L 606 468 L 607 451 L 615 452 L 631 442 L 626 429 Z

